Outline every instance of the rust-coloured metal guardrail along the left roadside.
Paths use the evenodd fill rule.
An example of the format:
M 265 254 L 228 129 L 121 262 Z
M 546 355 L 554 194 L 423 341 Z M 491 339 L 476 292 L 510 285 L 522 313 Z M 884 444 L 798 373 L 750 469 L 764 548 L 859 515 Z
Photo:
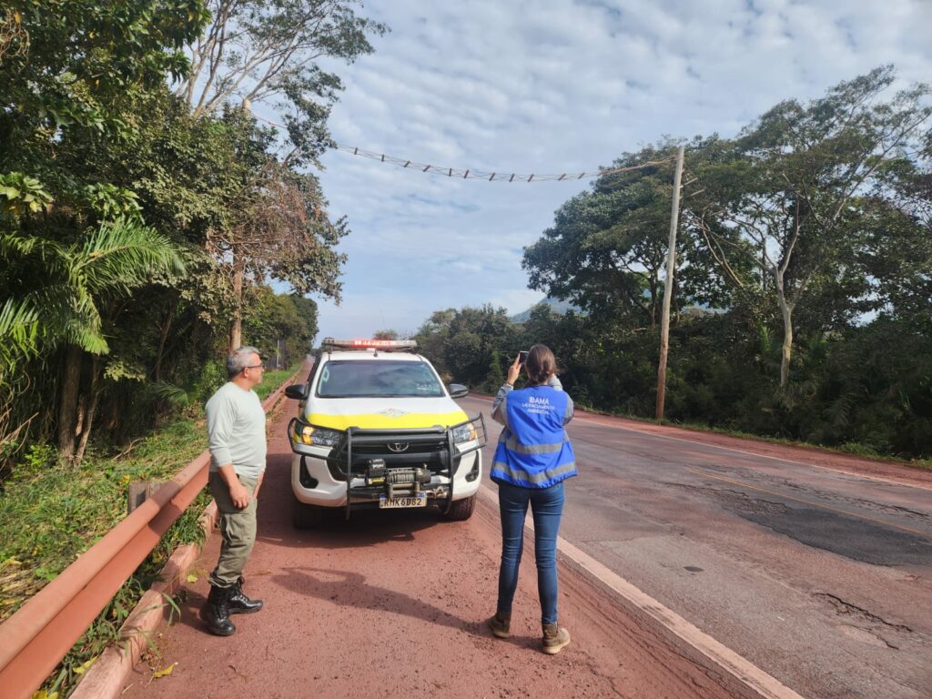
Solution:
M 266 412 L 300 371 L 267 397 L 262 404 Z M 0 694 L 4 699 L 28 697 L 42 685 L 198 497 L 207 485 L 210 463 L 210 452 L 202 452 L 0 624 Z

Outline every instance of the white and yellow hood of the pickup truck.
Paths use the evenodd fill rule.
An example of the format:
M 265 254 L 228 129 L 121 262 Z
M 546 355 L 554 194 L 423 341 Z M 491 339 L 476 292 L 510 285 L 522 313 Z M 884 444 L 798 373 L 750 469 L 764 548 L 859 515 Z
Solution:
M 439 398 L 312 398 L 305 419 L 318 427 L 347 430 L 449 427 L 465 422 L 466 413 L 446 396 Z

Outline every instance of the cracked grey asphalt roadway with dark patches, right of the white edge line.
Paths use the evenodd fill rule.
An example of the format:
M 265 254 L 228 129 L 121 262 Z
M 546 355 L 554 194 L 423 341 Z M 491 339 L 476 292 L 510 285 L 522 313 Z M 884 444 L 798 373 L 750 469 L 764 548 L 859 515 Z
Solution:
M 460 403 L 490 463 L 490 402 Z M 932 474 L 594 415 L 569 435 L 565 539 L 803 696 L 932 696 Z

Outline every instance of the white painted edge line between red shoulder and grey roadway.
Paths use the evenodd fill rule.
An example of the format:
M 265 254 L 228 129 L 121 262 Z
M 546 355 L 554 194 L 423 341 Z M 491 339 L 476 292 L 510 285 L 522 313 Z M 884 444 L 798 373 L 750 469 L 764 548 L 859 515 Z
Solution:
M 483 484 L 479 488 L 483 498 L 493 503 L 498 510 L 498 497 L 490 487 Z M 525 527 L 534 530 L 532 522 L 526 522 Z M 802 695 L 794 692 L 778 679 L 768 675 L 760 667 L 751 663 L 747 658 L 724 646 L 715 638 L 709 636 L 697 626 L 691 624 L 677 612 L 666 608 L 659 601 L 637 588 L 632 583 L 607 566 L 599 563 L 591 555 L 564 539 L 556 538 L 556 549 L 564 555 L 573 568 L 578 568 L 589 576 L 595 578 L 624 602 L 625 607 L 634 608 L 638 613 L 649 618 L 654 624 L 659 624 L 666 633 L 678 641 L 688 645 L 694 651 L 705 656 L 720 671 L 737 680 L 742 686 L 765 699 L 803 699 Z

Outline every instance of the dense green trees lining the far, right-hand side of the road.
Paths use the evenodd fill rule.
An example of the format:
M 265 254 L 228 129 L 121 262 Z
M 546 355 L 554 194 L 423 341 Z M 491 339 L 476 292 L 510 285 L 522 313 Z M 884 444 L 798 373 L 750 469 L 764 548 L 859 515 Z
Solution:
M 686 143 L 665 419 L 929 464 L 932 93 L 896 82 L 881 67 Z M 414 335 L 424 353 L 497 391 L 543 342 L 579 404 L 653 418 L 672 170 L 598 178 L 525 249 L 531 288 L 568 312 L 438 310 Z

